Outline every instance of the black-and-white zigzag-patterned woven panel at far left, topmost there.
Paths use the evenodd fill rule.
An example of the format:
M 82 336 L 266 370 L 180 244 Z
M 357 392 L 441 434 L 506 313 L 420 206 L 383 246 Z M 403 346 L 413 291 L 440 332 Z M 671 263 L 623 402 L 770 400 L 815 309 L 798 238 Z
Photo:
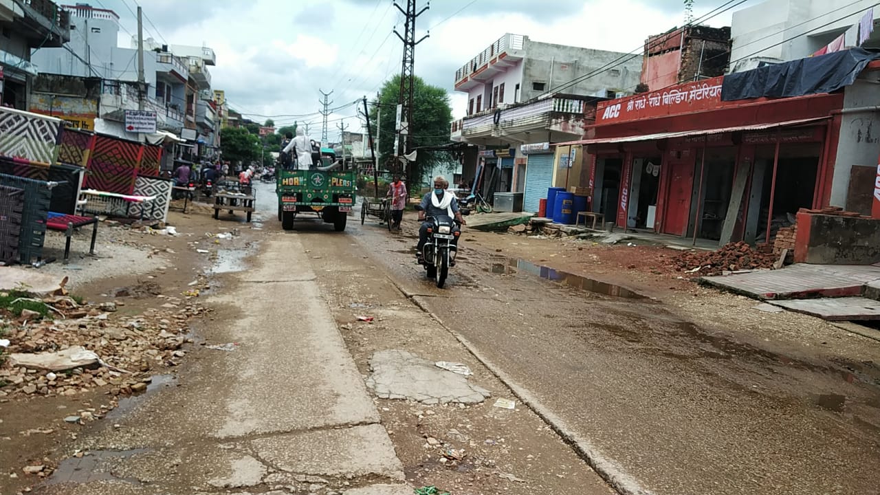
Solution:
M 58 158 L 62 121 L 0 107 L 0 156 L 49 166 Z

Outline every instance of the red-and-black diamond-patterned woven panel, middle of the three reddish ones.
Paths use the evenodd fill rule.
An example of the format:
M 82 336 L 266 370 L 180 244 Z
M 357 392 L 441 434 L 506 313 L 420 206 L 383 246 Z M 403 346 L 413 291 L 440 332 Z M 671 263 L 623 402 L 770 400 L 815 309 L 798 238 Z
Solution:
M 96 136 L 85 188 L 130 195 L 143 154 L 143 145 L 114 137 Z

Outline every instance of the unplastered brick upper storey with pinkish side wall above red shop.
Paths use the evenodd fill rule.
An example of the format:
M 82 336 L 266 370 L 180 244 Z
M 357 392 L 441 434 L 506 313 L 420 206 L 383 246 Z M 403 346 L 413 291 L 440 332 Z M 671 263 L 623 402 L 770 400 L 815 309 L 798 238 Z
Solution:
M 715 78 L 730 62 L 730 27 L 684 26 L 649 36 L 642 57 L 642 89 Z

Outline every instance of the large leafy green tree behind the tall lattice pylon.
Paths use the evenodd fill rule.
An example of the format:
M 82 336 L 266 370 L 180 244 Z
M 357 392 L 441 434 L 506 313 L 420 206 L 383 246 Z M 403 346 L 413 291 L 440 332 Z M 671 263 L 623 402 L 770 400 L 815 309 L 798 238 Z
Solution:
M 422 78 L 414 77 L 413 97 L 413 122 L 409 125 L 409 147 L 407 151 L 420 146 L 436 146 L 450 142 L 450 124 L 452 122 L 452 108 L 449 103 L 449 95 L 441 87 L 428 85 Z M 379 147 L 378 156 L 382 157 L 382 163 L 390 163 L 389 159 L 396 153 L 394 150 L 394 117 L 396 107 L 400 100 L 400 75 L 385 81 L 379 92 L 378 100 L 373 100 L 370 109 L 370 125 L 377 122 L 378 108 L 382 109 L 382 119 L 379 122 Z M 375 136 L 375 129 L 374 129 Z M 414 178 L 422 176 L 422 170 L 434 168 L 436 164 L 448 162 L 451 159 L 448 153 L 420 151 L 414 166 L 407 170 L 410 182 Z

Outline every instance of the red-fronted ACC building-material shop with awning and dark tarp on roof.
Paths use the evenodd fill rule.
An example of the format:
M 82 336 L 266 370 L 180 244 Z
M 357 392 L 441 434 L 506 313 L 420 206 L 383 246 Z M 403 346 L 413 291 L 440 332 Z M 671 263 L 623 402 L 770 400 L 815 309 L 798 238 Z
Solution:
M 853 57 L 857 78 L 845 62 L 810 77 Z M 870 214 L 878 58 L 856 48 L 599 103 L 587 138 L 568 143 L 589 153 L 590 211 L 721 243 L 772 240 L 801 208 Z M 771 69 L 797 84 L 776 92 Z

